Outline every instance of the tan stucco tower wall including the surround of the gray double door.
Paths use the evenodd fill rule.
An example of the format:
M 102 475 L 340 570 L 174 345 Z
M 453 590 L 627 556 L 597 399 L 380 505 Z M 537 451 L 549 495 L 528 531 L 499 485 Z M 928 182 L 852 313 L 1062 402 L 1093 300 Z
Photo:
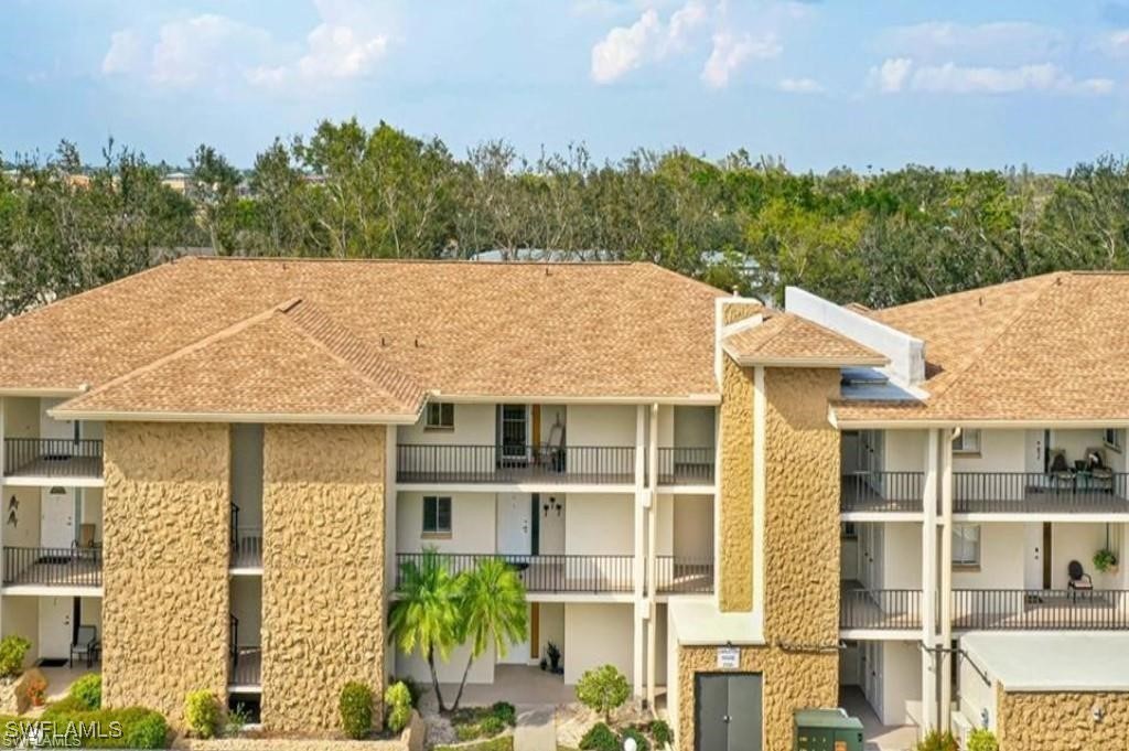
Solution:
M 826 411 L 838 393 L 838 370 L 764 373 L 768 644 L 742 647 L 741 670 L 763 675 L 765 751 L 791 751 L 797 709 L 839 705 L 839 434 Z M 751 451 L 751 442 L 746 446 Z M 751 540 L 749 497 L 744 516 Z M 679 748 L 689 751 L 694 673 L 717 670 L 717 647 L 679 647 L 677 667 Z

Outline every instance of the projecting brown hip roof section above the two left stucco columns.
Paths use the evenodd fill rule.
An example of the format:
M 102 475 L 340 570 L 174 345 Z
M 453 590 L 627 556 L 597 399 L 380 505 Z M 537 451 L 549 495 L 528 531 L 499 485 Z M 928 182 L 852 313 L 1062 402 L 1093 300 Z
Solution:
M 379 352 L 295 300 L 115 378 L 55 413 L 414 422 L 423 396 Z

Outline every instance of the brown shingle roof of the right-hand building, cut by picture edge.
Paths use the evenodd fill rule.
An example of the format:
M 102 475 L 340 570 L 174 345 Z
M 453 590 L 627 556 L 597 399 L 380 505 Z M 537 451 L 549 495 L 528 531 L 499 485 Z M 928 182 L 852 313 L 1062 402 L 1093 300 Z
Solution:
M 924 402 L 841 402 L 841 422 L 1129 419 L 1129 276 L 1059 272 L 872 315 L 926 342 Z

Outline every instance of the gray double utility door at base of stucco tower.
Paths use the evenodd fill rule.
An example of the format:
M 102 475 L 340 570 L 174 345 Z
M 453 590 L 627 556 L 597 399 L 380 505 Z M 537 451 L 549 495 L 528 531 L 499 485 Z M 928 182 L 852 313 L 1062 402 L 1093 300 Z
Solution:
M 760 673 L 698 673 L 694 697 L 697 751 L 762 751 Z

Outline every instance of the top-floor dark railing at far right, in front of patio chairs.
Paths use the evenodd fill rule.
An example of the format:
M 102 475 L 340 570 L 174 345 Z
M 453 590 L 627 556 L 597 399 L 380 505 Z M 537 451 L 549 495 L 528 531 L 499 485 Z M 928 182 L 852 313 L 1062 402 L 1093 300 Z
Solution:
M 1101 470 L 954 472 L 953 510 L 1129 514 L 1129 474 Z

